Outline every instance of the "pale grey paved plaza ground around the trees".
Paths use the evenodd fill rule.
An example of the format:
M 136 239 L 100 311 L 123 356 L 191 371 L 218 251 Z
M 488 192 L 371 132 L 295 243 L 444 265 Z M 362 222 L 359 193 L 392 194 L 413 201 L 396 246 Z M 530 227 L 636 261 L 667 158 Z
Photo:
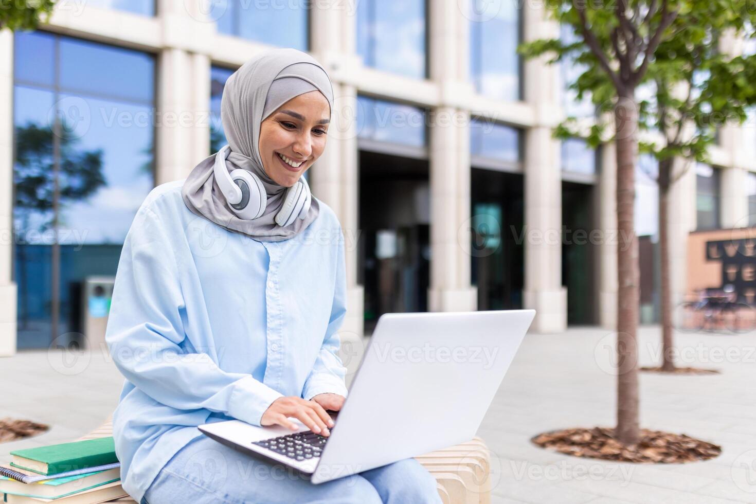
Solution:
M 717 376 L 643 375 L 641 425 L 723 447 L 717 459 L 684 465 L 630 465 L 576 459 L 535 447 L 541 431 L 614 424 L 613 335 L 575 328 L 530 334 L 479 434 L 493 452 L 493 502 L 670 504 L 756 503 L 756 334 L 683 334 L 685 365 Z M 640 364 L 658 361 L 658 328 L 640 330 Z M 0 447 L 70 441 L 98 426 L 118 402 L 122 378 L 101 354 L 64 360 L 61 351 L 20 351 L 0 359 L 0 418 L 33 419 L 51 431 Z

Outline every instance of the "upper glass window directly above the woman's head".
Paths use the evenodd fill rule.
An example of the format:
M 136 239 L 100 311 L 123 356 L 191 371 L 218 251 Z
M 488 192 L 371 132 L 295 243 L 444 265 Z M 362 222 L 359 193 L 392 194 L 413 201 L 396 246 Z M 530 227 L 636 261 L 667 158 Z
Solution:
M 299 51 L 309 48 L 310 0 L 228 0 L 210 4 L 210 17 L 217 20 L 218 32 Z

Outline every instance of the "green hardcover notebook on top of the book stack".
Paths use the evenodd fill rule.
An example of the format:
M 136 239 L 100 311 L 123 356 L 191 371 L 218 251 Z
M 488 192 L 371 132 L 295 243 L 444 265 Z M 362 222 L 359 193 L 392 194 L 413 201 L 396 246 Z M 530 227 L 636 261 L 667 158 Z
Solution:
M 41 475 L 57 475 L 59 472 L 118 462 L 112 437 L 15 450 L 11 455 L 11 465 Z

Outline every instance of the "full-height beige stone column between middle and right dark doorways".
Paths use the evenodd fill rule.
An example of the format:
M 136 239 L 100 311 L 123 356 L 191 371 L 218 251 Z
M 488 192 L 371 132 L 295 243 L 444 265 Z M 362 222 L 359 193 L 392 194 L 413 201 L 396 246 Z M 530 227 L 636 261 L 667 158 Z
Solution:
M 526 40 L 559 38 L 559 25 L 543 5 L 522 10 Z M 525 101 L 535 125 L 525 132 L 525 308 L 536 311 L 533 329 L 567 328 L 567 289 L 562 286 L 562 172 L 553 128 L 562 119 L 559 67 L 546 57 L 525 62 Z

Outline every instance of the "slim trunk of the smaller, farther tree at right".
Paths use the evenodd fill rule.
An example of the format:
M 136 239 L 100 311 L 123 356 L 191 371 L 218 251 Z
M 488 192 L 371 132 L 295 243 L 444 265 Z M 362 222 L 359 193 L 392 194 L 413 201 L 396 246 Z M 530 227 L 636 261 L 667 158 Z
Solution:
M 669 272 L 668 203 L 673 159 L 659 162 L 659 258 L 661 261 L 660 299 L 662 309 L 662 371 L 674 371 L 674 343 L 672 342 L 672 290 Z

